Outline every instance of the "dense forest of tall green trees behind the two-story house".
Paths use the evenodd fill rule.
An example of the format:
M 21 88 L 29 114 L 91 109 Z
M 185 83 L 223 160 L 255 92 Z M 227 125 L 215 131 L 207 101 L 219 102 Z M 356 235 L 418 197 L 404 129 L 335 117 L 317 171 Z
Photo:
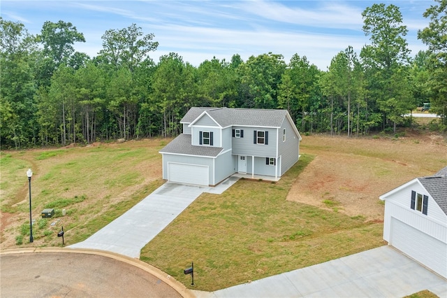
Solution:
M 0 18 L 1 148 L 66 146 L 113 139 L 176 136 L 191 106 L 284 108 L 300 132 L 347 136 L 395 132 L 404 114 L 430 102 L 446 132 L 447 0 L 434 0 L 411 57 L 406 26 L 393 4 L 363 13 L 370 43 L 350 45 L 321 71 L 299 54 L 285 62 L 265 53 L 205 60 L 199 66 L 172 52 L 155 63 L 159 43 L 136 24 L 110 29 L 96 57 L 76 52 L 85 37 L 70 22 L 45 22 L 41 34 Z

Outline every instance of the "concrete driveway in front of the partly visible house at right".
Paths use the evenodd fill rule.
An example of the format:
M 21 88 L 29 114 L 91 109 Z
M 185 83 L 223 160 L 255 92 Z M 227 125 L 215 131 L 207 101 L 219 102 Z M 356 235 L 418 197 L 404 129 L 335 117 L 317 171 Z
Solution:
M 199 298 L 404 297 L 421 290 L 447 297 L 447 281 L 394 248 L 381 246 L 216 292 L 194 294 Z

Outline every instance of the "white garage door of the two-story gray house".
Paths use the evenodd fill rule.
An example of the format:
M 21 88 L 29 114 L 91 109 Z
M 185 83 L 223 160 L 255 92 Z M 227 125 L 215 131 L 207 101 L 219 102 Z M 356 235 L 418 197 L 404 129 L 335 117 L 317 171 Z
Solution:
M 168 181 L 208 186 L 208 166 L 168 163 Z

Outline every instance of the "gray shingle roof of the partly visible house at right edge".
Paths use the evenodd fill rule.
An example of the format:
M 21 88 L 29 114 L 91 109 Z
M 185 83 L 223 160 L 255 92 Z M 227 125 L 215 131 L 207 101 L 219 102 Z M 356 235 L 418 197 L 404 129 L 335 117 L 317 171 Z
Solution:
M 421 177 L 418 180 L 442 211 L 447 214 L 447 166 L 434 176 Z

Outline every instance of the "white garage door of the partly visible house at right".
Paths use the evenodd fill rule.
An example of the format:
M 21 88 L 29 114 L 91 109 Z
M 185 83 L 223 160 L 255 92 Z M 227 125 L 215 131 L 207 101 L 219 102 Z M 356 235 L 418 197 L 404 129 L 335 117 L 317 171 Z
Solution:
M 391 218 L 390 245 L 447 278 L 447 244 Z

